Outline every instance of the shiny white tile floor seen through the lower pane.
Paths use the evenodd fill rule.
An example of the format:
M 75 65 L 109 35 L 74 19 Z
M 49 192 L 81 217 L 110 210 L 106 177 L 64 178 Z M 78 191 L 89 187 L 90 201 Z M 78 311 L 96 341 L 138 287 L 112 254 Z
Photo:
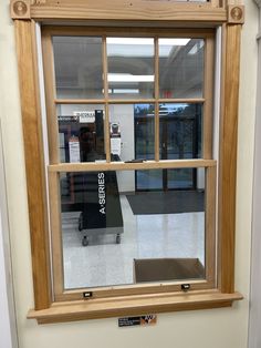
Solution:
M 80 213 L 63 213 L 63 264 L 66 289 L 133 284 L 134 258 L 198 257 L 205 263 L 205 213 L 133 215 L 121 196 L 124 234 L 90 238 L 82 246 Z

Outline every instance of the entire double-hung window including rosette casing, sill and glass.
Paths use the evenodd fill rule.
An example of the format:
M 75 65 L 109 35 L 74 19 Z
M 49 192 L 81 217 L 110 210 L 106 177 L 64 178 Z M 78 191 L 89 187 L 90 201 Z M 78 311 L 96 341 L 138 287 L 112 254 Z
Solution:
M 29 317 L 231 306 L 243 8 L 102 3 L 11 1 Z

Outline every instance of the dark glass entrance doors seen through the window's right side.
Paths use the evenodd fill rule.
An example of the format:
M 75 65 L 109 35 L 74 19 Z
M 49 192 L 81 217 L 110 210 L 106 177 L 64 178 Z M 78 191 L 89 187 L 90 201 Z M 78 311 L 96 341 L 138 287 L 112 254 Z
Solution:
M 144 130 L 152 129 L 149 119 L 135 119 L 135 130 L 140 122 L 144 122 Z M 159 158 L 180 160 L 201 157 L 201 105 L 200 104 L 161 104 L 159 108 Z M 138 144 L 144 134 L 135 132 L 135 155 L 136 158 L 149 158 L 149 154 L 139 153 Z M 196 190 L 197 170 L 163 170 L 146 171 L 136 173 L 136 191 L 150 190 Z M 148 177 L 149 176 L 149 177 Z

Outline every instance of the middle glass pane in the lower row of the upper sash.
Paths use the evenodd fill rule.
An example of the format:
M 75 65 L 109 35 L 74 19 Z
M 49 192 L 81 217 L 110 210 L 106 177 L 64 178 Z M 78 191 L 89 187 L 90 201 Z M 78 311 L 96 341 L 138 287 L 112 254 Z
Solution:
M 112 161 L 155 158 L 154 104 L 109 105 Z

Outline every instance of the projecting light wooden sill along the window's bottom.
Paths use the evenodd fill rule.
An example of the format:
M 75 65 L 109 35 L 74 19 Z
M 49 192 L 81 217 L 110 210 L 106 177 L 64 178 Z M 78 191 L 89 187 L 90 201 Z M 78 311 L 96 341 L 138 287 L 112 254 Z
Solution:
M 242 298 L 240 293 L 222 294 L 218 290 L 94 298 L 53 303 L 48 309 L 30 310 L 28 318 L 36 319 L 39 324 L 51 324 L 177 310 L 210 309 L 230 307 L 234 300 Z

